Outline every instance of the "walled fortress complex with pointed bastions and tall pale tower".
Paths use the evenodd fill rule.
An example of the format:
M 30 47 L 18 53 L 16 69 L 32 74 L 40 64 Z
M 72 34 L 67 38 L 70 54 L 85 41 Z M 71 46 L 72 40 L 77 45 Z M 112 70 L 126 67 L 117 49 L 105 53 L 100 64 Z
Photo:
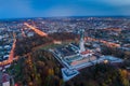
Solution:
M 122 59 L 104 56 L 96 53 L 99 51 L 84 47 L 84 30 L 80 29 L 80 42 L 79 44 L 70 43 L 65 46 L 60 46 L 54 49 L 50 49 L 54 57 L 63 64 L 62 74 L 63 80 L 66 82 L 72 77 L 79 74 L 80 69 L 90 67 L 100 62 L 122 62 Z M 95 47 L 98 45 L 94 45 Z

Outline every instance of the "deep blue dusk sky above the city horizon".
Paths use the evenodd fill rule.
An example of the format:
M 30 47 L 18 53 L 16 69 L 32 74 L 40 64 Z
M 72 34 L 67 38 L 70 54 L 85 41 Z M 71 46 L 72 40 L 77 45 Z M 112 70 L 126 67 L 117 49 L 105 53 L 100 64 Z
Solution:
M 130 16 L 130 0 L 0 0 L 0 18 Z

